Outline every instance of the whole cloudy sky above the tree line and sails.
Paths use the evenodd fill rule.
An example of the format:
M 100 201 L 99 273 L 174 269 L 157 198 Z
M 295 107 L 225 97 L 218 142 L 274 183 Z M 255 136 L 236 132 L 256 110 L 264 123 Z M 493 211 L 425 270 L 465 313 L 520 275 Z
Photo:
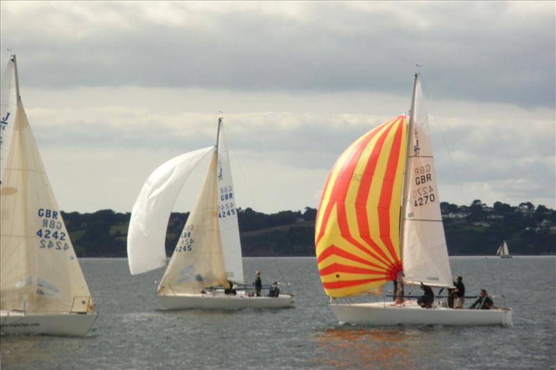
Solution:
M 556 207 L 553 1 L 0 7 L 63 210 L 129 212 L 158 165 L 214 144 L 220 111 L 238 205 L 316 207 L 343 149 L 409 110 L 416 64 L 441 200 Z

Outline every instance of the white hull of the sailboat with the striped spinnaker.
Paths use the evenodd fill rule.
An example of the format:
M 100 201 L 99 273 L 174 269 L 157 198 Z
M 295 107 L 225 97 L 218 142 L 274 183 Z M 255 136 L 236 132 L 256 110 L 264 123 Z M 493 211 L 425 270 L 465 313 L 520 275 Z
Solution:
M 456 310 L 421 308 L 415 301 L 393 303 L 331 303 L 330 308 L 341 323 L 361 325 L 502 325 L 513 326 L 512 309 Z

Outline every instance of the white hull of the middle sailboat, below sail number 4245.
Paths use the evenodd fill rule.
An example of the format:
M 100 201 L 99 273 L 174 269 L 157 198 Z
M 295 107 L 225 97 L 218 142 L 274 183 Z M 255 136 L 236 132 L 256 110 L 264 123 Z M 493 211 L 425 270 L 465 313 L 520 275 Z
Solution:
M 239 310 L 242 308 L 291 308 L 295 299 L 289 294 L 278 297 L 248 296 L 244 292 L 227 295 L 223 292 L 206 294 L 159 295 L 158 301 L 165 310 L 185 310 L 199 308 L 202 310 Z

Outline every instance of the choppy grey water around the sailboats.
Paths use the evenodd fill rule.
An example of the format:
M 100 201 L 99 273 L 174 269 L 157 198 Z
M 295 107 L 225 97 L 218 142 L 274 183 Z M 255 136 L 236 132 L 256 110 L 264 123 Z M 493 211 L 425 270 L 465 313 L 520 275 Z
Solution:
M 99 297 L 92 331 L 83 338 L 3 336 L 1 368 L 555 369 L 556 258 L 450 261 L 468 293 L 484 287 L 505 294 L 514 327 L 339 326 L 314 258 L 244 259 L 248 277 L 260 269 L 263 283 L 287 278 L 294 309 L 165 312 L 154 294 L 162 270 L 130 276 L 126 260 L 83 259 Z

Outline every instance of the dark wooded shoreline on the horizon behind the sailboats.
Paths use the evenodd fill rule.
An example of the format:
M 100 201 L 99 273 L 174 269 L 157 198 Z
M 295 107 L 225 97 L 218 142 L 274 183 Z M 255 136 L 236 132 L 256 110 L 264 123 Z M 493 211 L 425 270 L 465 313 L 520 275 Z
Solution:
M 492 206 L 475 200 L 471 205 L 442 202 L 450 255 L 493 255 L 503 240 L 514 255 L 556 254 L 556 211 L 530 202 Z M 244 256 L 314 256 L 317 210 L 285 210 L 272 214 L 238 208 Z M 131 214 L 113 210 L 94 213 L 62 212 L 78 257 L 125 257 Z M 189 213 L 172 212 L 166 249 L 177 244 Z

